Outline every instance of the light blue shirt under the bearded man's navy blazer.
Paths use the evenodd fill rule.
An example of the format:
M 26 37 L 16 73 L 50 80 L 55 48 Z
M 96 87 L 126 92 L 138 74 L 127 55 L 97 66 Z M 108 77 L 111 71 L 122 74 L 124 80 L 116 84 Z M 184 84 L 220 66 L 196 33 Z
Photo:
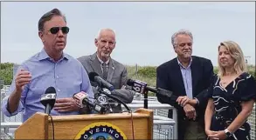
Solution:
M 190 58 L 190 63 L 188 67 L 184 67 L 182 63 L 177 58 L 177 62 L 180 65 L 180 70 L 182 71 L 183 75 L 183 83 L 186 90 L 186 95 L 192 99 L 193 98 L 193 90 L 192 90 L 192 76 L 191 76 L 191 69 L 190 65 L 192 63 L 192 58 Z

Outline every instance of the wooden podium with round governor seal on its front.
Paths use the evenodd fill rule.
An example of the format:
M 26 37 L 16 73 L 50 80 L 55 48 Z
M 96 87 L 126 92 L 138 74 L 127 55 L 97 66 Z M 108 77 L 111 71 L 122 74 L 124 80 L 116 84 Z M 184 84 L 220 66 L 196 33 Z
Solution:
M 153 110 L 147 109 L 52 118 L 38 112 L 17 128 L 15 139 L 53 139 L 52 123 L 54 139 L 153 139 Z

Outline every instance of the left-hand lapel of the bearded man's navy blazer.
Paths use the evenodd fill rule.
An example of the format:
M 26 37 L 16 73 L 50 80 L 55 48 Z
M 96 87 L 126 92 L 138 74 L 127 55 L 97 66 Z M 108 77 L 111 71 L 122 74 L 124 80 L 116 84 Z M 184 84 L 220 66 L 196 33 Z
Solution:
M 185 90 L 185 87 L 184 87 L 184 83 L 183 83 L 183 74 L 182 74 L 182 71 L 180 70 L 180 65 L 177 63 L 177 58 L 175 60 L 175 63 L 174 63 L 174 70 L 176 70 L 176 72 L 174 72 L 174 76 L 175 77 L 174 79 L 176 79 L 176 83 L 183 89 L 182 93 L 180 93 L 181 95 L 183 96 L 186 96 L 186 90 Z

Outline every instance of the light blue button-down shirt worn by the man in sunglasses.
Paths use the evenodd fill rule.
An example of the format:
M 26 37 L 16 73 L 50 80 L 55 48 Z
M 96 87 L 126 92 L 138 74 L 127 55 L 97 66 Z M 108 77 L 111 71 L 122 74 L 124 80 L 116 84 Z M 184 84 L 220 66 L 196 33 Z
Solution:
M 31 82 L 24 86 L 18 108 L 11 113 L 7 110 L 8 97 L 3 98 L 2 111 L 7 117 L 23 112 L 23 122 L 36 112 L 45 112 L 45 106 L 40 103 L 40 97 L 45 90 L 52 86 L 56 89 L 56 98 L 73 97 L 74 93 L 85 91 L 93 98 L 93 90 L 86 70 L 75 58 L 64 53 L 63 57 L 54 62 L 43 49 L 21 64 L 17 71 L 24 69 L 31 72 Z M 15 90 L 15 81 L 10 85 L 7 93 L 10 95 Z M 51 115 L 77 115 L 78 111 L 59 113 L 51 111 Z

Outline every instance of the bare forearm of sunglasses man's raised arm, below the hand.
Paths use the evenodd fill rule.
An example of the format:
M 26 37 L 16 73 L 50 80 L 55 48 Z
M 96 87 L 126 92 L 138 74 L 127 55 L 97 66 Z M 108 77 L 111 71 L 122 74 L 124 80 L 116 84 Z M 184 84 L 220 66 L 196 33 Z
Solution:
M 15 112 L 18 108 L 22 91 L 14 90 L 8 98 L 7 110 L 11 113 Z

